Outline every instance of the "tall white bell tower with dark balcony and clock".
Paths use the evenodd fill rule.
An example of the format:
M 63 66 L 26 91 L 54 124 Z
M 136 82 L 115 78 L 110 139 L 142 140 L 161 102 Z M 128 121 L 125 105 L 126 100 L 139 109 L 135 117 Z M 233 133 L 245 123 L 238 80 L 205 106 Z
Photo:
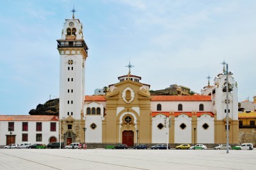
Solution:
M 72 133 L 72 142 L 81 138 L 81 118 L 84 111 L 84 63 L 88 47 L 84 42 L 83 24 L 75 19 L 65 19 L 61 39 L 57 40 L 60 53 L 60 120 L 61 141 L 65 133 Z M 68 120 L 68 121 L 67 121 Z M 79 124 L 79 128 L 77 125 Z M 76 126 L 76 128 L 75 128 Z M 77 131 L 76 131 L 77 130 Z M 74 137 L 74 135 L 76 137 Z M 76 138 L 76 141 L 74 139 Z M 64 136 L 64 142 L 65 136 Z

